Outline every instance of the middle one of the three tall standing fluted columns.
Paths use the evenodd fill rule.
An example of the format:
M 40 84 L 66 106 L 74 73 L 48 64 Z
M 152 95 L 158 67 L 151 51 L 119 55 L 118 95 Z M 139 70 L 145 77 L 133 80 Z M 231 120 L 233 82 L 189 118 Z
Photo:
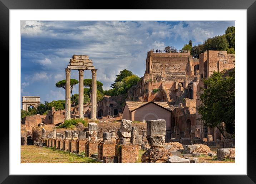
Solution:
M 79 69 L 79 91 L 78 91 L 78 111 L 79 118 L 84 118 L 84 70 Z

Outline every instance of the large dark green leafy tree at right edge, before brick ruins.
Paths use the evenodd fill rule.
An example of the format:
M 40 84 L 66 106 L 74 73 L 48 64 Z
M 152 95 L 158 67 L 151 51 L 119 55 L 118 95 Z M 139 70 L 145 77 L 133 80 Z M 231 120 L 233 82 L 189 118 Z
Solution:
M 217 127 L 224 137 L 225 131 L 235 135 L 235 69 L 213 72 L 204 85 L 207 88 L 200 94 L 202 104 L 197 107 L 200 119 L 207 127 Z

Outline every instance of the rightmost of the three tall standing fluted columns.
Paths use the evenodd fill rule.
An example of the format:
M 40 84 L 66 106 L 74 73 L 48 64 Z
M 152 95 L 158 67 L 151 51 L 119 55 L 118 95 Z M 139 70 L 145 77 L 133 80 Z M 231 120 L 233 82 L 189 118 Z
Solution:
M 92 70 L 92 114 L 91 118 L 96 119 L 97 111 L 97 70 Z

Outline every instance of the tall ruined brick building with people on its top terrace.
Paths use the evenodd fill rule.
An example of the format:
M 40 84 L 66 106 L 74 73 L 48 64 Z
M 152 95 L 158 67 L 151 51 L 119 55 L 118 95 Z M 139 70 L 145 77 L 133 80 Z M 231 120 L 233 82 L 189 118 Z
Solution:
M 198 81 L 198 73 L 199 61 L 190 56 L 190 51 L 186 53 L 149 51 L 145 74 L 133 89 L 133 100 L 164 101 L 175 104 L 182 97 L 184 88 L 187 88 L 189 83 Z

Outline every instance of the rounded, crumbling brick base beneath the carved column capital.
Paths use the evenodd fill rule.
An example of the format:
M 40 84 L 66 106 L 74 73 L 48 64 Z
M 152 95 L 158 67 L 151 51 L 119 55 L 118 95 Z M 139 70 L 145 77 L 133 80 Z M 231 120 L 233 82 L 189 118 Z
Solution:
M 166 163 L 172 153 L 164 148 L 150 148 L 141 157 L 141 163 Z

